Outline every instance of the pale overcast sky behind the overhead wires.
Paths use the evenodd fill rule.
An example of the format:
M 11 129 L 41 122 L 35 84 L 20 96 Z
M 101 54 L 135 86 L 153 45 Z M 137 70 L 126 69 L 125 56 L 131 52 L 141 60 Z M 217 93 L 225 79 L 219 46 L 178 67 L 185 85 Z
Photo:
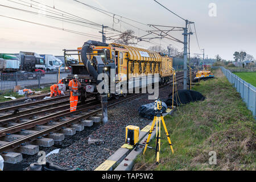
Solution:
M 24 4 L 27 2 L 26 5 L 28 6 L 18 5 L 11 1 Z M 121 15 L 125 17 L 121 18 L 121 20 L 131 25 L 118 23 L 118 19 L 115 19 L 113 23 L 113 16 L 107 16 L 73 0 L 34 0 L 36 2 L 32 2 L 32 7 L 29 4 L 30 0 L 11 1 L 1 0 L 0 5 L 44 14 L 46 13 L 43 11 L 44 6 L 41 6 L 41 10 L 32 8 L 36 7 L 34 5 L 39 5 L 36 2 L 41 2 L 51 7 L 54 5 L 55 9 L 66 11 L 98 24 L 104 24 L 118 31 L 125 31 L 130 28 L 134 30 L 136 36 L 146 35 L 146 30 L 152 30 L 152 28 L 131 22 L 125 18 L 137 20 L 144 24 L 185 26 L 184 20 L 170 13 L 153 0 L 78 0 L 110 11 L 116 14 L 115 18 L 120 19 L 118 15 Z M 233 60 L 234 51 L 246 51 L 246 53 L 256 58 L 255 0 L 158 0 L 158 2 L 182 18 L 195 22 L 199 46 L 201 49 L 205 49 L 205 55 L 208 55 L 208 57 L 215 57 L 218 54 L 222 59 Z M 212 6 L 209 8 L 210 3 L 216 5 L 216 16 L 209 16 L 209 11 L 214 12 Z M 74 49 L 82 46 L 87 40 L 101 40 L 101 34 L 98 32 L 100 28 L 95 30 L 3 6 L 0 6 L 0 15 L 93 35 L 93 37 L 89 37 L 73 34 L 0 16 L 0 52 L 18 53 L 19 51 L 32 51 L 40 54 L 63 55 L 62 50 L 64 48 Z M 191 56 L 194 56 L 194 53 L 202 53 L 202 51 L 200 51 L 197 45 L 193 25 L 191 25 L 191 28 L 194 33 L 191 36 Z M 111 31 L 107 33 L 107 36 L 117 35 L 111 34 Z M 175 38 L 183 41 L 181 34 L 181 31 L 171 33 Z M 152 43 L 139 42 L 138 44 L 140 47 L 148 48 L 154 46 L 153 42 L 160 44 L 164 48 L 167 48 L 169 44 L 180 51 L 183 48 L 183 44 L 168 39 L 154 39 Z M 111 41 L 108 41 L 108 43 L 111 43 Z

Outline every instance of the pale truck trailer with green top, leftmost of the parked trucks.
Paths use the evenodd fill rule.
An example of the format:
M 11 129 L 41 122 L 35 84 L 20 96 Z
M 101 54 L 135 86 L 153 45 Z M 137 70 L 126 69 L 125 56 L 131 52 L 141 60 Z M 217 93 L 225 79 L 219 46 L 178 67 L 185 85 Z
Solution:
M 9 53 L 0 53 L 0 72 L 16 72 L 20 69 L 19 59 Z

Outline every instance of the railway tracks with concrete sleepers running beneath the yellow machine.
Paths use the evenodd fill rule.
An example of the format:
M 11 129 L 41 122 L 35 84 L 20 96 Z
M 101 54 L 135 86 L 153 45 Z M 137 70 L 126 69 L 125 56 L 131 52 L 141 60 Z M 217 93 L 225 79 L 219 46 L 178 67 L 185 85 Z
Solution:
M 178 72 L 177 81 L 182 78 L 183 73 Z M 170 84 L 172 79 L 167 85 Z M 110 100 L 108 107 L 141 95 L 133 94 L 119 100 Z M 4 158 L 8 154 L 19 155 L 22 160 L 22 154 L 37 154 L 39 146 L 51 147 L 54 142 L 64 140 L 65 135 L 75 135 L 76 131 L 101 121 L 101 114 L 97 115 L 101 112 L 101 104 L 97 100 L 86 100 L 84 105 L 79 103 L 77 111 L 72 113 L 68 102 L 68 96 L 64 96 L 56 100 L 53 98 L 1 109 L 0 112 L 4 114 L 0 115 L 0 154 Z M 31 104 L 34 107 L 31 108 Z M 19 109 L 19 113 L 13 113 L 15 109 Z

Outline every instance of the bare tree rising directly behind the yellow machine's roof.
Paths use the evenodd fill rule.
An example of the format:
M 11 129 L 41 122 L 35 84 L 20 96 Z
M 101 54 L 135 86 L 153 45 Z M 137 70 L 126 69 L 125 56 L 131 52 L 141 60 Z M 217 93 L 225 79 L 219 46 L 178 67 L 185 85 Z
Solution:
M 124 44 L 125 46 L 135 45 L 137 44 L 137 42 L 134 33 L 135 32 L 133 30 L 126 30 L 121 35 L 119 35 L 118 39 L 115 40 L 115 42 L 119 44 Z

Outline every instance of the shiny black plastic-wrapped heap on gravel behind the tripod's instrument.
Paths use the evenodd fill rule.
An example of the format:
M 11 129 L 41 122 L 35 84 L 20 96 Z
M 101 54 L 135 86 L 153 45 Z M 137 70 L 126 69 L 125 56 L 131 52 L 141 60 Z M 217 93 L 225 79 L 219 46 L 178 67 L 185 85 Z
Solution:
M 167 105 L 166 103 L 162 102 L 162 109 L 161 111 L 163 113 L 166 113 Z M 142 118 L 147 118 L 147 119 L 154 119 L 155 116 L 155 102 L 152 102 L 150 104 L 145 104 L 139 107 L 138 109 L 139 115 Z

